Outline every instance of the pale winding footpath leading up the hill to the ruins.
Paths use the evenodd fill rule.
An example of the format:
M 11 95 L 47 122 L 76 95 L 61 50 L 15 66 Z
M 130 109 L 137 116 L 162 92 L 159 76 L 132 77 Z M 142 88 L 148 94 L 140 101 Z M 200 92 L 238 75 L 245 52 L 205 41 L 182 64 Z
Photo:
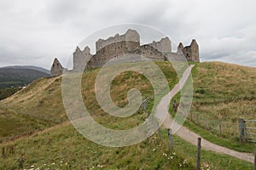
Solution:
M 160 120 L 163 120 L 163 116 L 167 115 L 165 117 L 165 122 L 162 124 L 162 127 L 165 127 L 165 128 L 171 128 L 172 127 L 172 122 L 173 122 L 172 116 L 168 113 L 170 100 L 175 96 L 175 94 L 177 94 L 181 90 L 181 88 L 183 88 L 183 85 L 186 82 L 186 80 L 188 79 L 189 74 L 190 74 L 193 67 L 194 67 L 194 65 L 190 65 L 189 68 L 186 71 L 184 71 L 183 77 L 180 79 L 180 81 L 177 83 L 177 85 L 174 88 L 172 88 L 172 91 L 169 92 L 168 94 L 166 94 L 166 96 L 164 96 L 160 100 L 160 104 L 157 106 L 155 115 Z M 174 122 L 174 123 L 176 123 L 176 122 Z M 190 131 L 187 127 L 183 127 L 183 126 L 178 129 L 176 135 L 179 136 L 180 138 L 186 140 L 190 144 L 194 144 L 194 145 L 197 145 L 197 139 L 201 138 L 200 135 Z M 219 146 L 218 144 L 212 144 L 211 142 L 209 142 L 209 141 L 207 141 L 206 139 L 203 139 L 203 138 L 201 138 L 201 147 L 204 150 L 210 150 L 210 151 L 214 151 L 214 152 L 217 152 L 217 153 L 220 153 L 220 154 L 225 154 L 225 155 L 228 155 L 228 156 L 234 156 L 234 157 L 239 158 L 241 160 L 249 161 L 249 162 L 252 162 L 252 163 L 254 162 L 254 156 L 251 153 L 242 153 L 242 152 L 238 152 L 236 150 L 230 150 L 230 149 L 225 148 L 223 146 Z

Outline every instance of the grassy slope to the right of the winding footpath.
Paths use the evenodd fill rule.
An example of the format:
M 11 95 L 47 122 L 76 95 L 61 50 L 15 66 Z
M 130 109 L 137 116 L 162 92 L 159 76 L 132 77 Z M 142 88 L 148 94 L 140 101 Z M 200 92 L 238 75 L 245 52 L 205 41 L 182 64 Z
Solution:
M 252 94 L 255 91 L 253 87 L 256 87 L 256 69 L 220 62 L 207 62 L 195 65 L 192 76 L 194 99 L 190 114 L 193 114 L 193 121 L 191 122 L 189 114 L 183 125 L 214 144 L 231 150 L 253 152 L 253 144 L 239 143 L 237 119 L 255 117 L 256 100 Z M 245 84 L 241 84 L 241 80 Z M 174 99 L 179 101 L 180 94 L 177 94 L 172 102 Z M 169 111 L 174 117 L 175 112 L 172 107 Z M 209 124 L 215 123 L 215 129 L 207 131 L 206 119 Z M 221 136 L 218 132 L 218 120 L 222 122 Z

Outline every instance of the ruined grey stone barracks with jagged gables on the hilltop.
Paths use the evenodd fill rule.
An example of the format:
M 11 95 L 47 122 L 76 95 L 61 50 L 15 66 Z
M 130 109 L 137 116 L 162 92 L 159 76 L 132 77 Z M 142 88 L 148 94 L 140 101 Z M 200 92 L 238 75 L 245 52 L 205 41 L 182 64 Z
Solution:
M 125 54 L 143 55 L 153 61 L 165 61 L 167 59 L 181 61 L 183 60 L 182 55 L 184 55 L 188 61 L 200 62 L 199 48 L 195 39 L 187 47 L 183 47 L 183 43 L 180 42 L 177 52 L 173 53 L 172 44 L 168 37 L 162 38 L 160 42 L 141 45 L 137 31 L 129 29 L 124 35 L 116 34 L 106 40 L 99 39 L 96 42 L 96 54 L 90 54 L 88 46 L 84 50 L 78 47 L 73 53 L 73 71 L 100 67 L 110 59 L 121 59 Z M 58 59 L 55 59 L 50 69 L 51 76 L 60 76 L 64 72 L 67 72 L 67 69 L 61 65 Z

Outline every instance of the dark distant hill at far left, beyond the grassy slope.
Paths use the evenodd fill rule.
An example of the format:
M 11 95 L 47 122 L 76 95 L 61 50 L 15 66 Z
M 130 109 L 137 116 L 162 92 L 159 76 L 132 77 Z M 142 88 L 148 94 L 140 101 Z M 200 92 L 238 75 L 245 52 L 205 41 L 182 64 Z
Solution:
M 24 87 L 30 82 L 40 78 L 40 77 L 49 77 L 48 73 L 44 71 L 26 69 L 24 67 L 3 67 L 0 68 L 0 88 L 16 88 Z

